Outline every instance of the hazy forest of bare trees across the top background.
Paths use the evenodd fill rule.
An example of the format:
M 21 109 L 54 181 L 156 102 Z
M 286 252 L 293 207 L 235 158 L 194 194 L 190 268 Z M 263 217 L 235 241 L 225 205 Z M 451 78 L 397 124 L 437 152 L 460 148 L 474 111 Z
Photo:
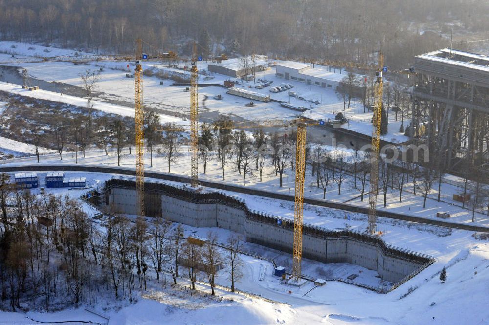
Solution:
M 352 60 L 382 49 L 400 67 L 448 46 L 452 28 L 487 33 L 488 13 L 484 0 L 0 0 L 0 36 L 118 53 L 137 37 L 180 54 L 193 40 L 213 52 Z

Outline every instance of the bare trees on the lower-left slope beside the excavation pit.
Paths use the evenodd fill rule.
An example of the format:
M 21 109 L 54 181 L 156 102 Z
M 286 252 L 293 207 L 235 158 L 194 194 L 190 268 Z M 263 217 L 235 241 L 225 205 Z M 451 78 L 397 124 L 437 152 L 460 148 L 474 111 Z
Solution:
M 185 268 L 193 284 L 210 284 L 210 295 L 223 266 L 232 291 L 242 276 L 238 235 L 218 245 L 209 232 L 199 245 L 184 236 L 181 225 L 162 218 L 131 220 L 110 208 L 94 223 L 77 198 L 34 195 L 11 185 L 9 176 L 0 174 L 0 310 L 132 303 L 150 281 L 177 284 Z

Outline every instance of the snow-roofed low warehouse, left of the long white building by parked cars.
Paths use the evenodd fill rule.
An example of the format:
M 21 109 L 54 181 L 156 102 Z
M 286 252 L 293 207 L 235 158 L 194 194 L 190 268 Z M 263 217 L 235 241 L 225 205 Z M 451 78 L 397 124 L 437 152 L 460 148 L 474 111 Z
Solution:
M 241 78 L 251 74 L 251 71 L 255 69 L 255 72 L 265 71 L 268 67 L 268 57 L 266 55 L 255 55 L 253 64 L 253 58 L 251 55 L 246 57 L 234 58 L 224 60 L 221 63 L 209 63 L 207 70 L 213 73 L 223 74 L 225 76 L 233 78 Z M 246 71 L 244 69 L 246 65 Z

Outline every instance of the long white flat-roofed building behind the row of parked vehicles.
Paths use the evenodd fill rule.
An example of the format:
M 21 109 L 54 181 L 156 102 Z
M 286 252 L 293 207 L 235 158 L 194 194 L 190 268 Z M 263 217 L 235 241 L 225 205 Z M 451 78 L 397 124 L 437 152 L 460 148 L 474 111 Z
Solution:
M 277 63 L 276 76 L 284 78 L 285 80 L 294 80 L 306 83 L 308 85 L 315 85 L 323 88 L 333 89 L 342 83 L 345 78 L 346 72 L 343 74 L 330 71 L 323 65 L 312 65 L 311 63 L 302 63 L 296 61 L 286 61 Z M 360 77 L 360 76 L 359 76 Z M 361 76 L 363 78 L 363 76 Z M 358 78 L 361 80 L 362 78 Z M 356 85 L 357 88 L 361 88 L 360 82 Z M 355 92 L 361 89 L 355 89 Z

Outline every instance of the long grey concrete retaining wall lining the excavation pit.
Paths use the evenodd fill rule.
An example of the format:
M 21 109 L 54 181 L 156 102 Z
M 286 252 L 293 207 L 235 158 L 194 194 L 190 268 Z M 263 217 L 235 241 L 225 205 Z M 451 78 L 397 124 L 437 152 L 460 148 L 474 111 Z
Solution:
M 136 213 L 134 182 L 113 179 L 106 187 L 107 204 L 127 214 Z M 221 227 L 244 235 L 248 242 L 292 253 L 293 220 L 250 211 L 236 198 L 222 193 L 195 193 L 158 183 L 146 184 L 146 198 L 146 211 L 159 211 L 148 207 L 161 205 L 161 214 L 148 214 L 150 217 L 163 217 L 193 227 Z M 360 265 L 376 270 L 383 280 L 392 283 L 432 260 L 387 246 L 375 236 L 310 225 L 303 227 L 303 257 L 324 263 Z

